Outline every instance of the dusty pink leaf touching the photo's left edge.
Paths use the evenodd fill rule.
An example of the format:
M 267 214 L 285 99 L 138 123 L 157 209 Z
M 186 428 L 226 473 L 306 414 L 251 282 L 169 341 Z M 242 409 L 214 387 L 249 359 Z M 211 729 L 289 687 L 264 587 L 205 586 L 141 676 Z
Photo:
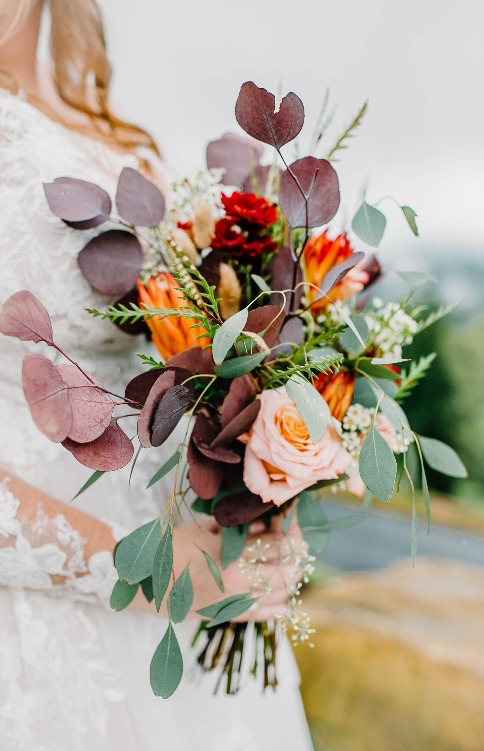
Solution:
M 0 332 L 23 342 L 53 345 L 52 324 L 40 300 L 26 289 L 12 294 L 0 313 Z

